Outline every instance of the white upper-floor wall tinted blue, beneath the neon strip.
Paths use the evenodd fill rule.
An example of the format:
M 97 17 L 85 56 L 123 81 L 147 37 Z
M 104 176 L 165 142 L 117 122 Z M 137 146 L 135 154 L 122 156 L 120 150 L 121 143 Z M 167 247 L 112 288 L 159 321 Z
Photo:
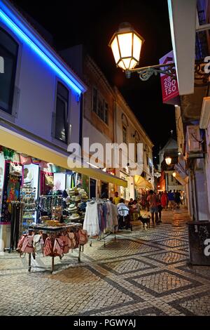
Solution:
M 5 117 L 20 128 L 24 128 L 48 142 L 66 148 L 64 143 L 54 140 L 52 137 L 52 112 L 55 112 L 57 92 L 55 72 L 27 44 L 22 44 L 22 41 L 1 22 L 0 26 L 10 33 L 19 44 L 13 115 L 1 111 L 0 117 Z M 61 79 L 58 80 L 64 84 Z M 69 86 L 66 87 L 70 94 L 71 142 L 78 142 L 80 103 L 76 100 L 76 93 Z

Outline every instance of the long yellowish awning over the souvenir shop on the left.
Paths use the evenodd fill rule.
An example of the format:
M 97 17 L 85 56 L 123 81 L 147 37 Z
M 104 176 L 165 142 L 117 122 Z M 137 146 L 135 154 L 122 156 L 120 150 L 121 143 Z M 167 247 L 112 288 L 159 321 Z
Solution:
M 67 154 L 67 152 L 64 154 L 57 150 L 53 150 L 48 146 L 42 145 L 41 143 L 22 136 L 20 133 L 11 131 L 10 129 L 3 126 L 0 126 L 0 145 L 13 149 L 16 152 L 29 154 L 31 157 L 47 161 L 48 163 L 53 163 L 57 166 L 69 170 L 69 166 L 67 164 L 67 158 L 69 157 L 69 154 Z M 120 179 L 117 176 L 112 176 L 111 174 L 106 173 L 101 169 L 81 167 L 76 169 L 73 168 L 70 170 L 85 174 L 86 176 L 90 176 L 94 179 L 105 181 L 107 183 L 113 183 L 115 185 L 127 187 L 126 180 Z

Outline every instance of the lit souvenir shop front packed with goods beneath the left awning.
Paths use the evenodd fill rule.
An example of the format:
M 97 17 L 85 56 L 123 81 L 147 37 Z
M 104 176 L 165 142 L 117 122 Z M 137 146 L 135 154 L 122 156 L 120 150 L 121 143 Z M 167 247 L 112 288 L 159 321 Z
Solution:
M 31 225 L 83 223 L 87 194 L 75 187 L 80 180 L 78 173 L 66 173 L 59 166 L 1 147 L 1 251 L 15 250 L 22 232 Z

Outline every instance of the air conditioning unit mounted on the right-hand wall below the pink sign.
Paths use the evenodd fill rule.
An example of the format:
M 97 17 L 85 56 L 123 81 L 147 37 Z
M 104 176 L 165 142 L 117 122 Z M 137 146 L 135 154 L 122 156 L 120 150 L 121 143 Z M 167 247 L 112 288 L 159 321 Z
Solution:
M 202 152 L 202 143 L 199 125 L 187 126 L 186 153 L 195 154 Z

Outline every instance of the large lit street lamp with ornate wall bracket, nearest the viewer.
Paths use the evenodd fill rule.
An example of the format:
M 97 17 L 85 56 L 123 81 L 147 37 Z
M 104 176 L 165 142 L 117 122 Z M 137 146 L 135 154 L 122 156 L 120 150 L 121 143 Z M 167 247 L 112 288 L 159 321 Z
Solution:
M 113 34 L 109 46 L 113 52 L 116 66 L 125 71 L 127 78 L 132 72 L 137 72 L 143 81 L 148 80 L 153 74 L 167 74 L 176 79 L 174 63 L 152 65 L 150 67 L 137 67 L 139 64 L 141 46 L 144 38 L 138 34 L 128 22 L 121 23 L 118 30 Z

